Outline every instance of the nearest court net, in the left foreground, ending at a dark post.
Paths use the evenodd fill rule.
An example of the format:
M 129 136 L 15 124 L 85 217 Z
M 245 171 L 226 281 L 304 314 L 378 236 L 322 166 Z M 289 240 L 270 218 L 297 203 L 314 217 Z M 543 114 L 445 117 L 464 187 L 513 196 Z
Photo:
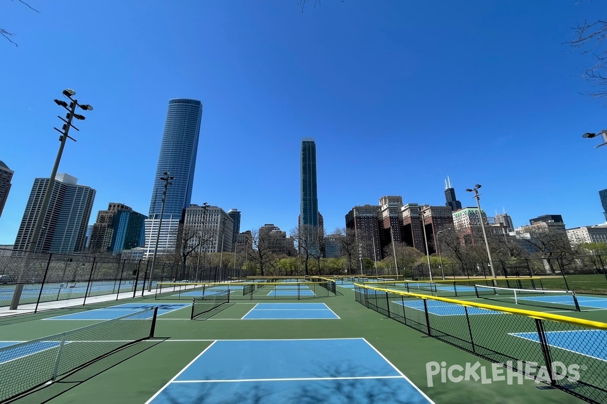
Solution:
M 0 348 L 0 402 L 154 336 L 157 308 Z

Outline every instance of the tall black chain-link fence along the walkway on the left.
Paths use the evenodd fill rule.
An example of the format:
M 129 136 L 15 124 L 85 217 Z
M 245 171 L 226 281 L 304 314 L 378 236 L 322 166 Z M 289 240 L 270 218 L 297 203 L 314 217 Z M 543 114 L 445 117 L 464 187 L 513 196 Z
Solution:
M 0 311 L 18 313 L 143 296 L 158 282 L 227 282 L 250 270 L 76 254 L 0 250 Z M 151 282 L 150 282 L 151 281 Z

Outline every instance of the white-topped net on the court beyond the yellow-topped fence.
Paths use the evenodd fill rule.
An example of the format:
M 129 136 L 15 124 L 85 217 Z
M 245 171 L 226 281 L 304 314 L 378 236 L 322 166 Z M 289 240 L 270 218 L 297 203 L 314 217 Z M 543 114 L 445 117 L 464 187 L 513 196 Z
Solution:
M 474 285 L 474 290 L 476 297 L 498 302 L 580 311 L 574 291 L 499 288 L 483 285 Z

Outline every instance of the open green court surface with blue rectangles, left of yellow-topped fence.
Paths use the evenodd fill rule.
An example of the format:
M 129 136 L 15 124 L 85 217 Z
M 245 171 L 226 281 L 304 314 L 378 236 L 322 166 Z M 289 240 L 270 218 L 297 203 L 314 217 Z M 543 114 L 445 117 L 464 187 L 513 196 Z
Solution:
M 122 306 L 112 308 L 118 305 Z M 164 305 L 153 339 L 129 345 L 15 403 L 276 403 L 279 401 L 271 399 L 274 396 L 268 392 L 264 396 L 263 392 L 271 386 L 276 393 L 277 385 L 282 386 L 280 394 L 291 394 L 291 399 L 282 402 L 294 403 L 583 402 L 557 389 L 537 388 L 546 385 L 533 380 L 523 380 L 521 385 L 518 379 L 514 385 L 506 381 L 483 384 L 473 379 L 442 383 L 437 375 L 429 386 L 427 363 L 464 367 L 479 362 L 489 372 L 491 363 L 365 308 L 348 288 L 339 288 L 337 296 L 317 299 L 236 300 L 194 320 L 189 319 L 186 300 L 120 300 L 86 310 L 0 319 L 0 340 L 25 341 L 62 333 L 98 323 L 101 317 L 117 316 L 130 305 Z M 607 320 L 607 310 L 602 309 L 559 314 Z M 225 340 L 242 342 L 229 348 Z M 264 343 L 254 343 L 260 340 Z M 285 340 L 289 341 L 286 347 Z M 371 374 L 373 369 L 379 369 L 378 374 Z M 184 373 L 169 383 L 182 370 Z M 187 380 L 179 379 L 183 377 Z M 409 387 L 407 379 L 422 393 Z M 314 389 L 322 391 L 322 397 L 314 396 Z

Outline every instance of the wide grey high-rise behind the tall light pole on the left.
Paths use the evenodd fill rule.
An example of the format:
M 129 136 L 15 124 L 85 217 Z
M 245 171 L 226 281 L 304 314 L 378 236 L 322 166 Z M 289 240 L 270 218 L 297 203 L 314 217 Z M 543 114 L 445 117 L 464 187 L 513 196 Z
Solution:
M 34 180 L 15 239 L 15 250 L 27 250 L 49 182 L 49 178 Z M 77 182 L 75 177 L 56 174 L 36 251 L 78 253 L 84 249 L 96 191 Z

